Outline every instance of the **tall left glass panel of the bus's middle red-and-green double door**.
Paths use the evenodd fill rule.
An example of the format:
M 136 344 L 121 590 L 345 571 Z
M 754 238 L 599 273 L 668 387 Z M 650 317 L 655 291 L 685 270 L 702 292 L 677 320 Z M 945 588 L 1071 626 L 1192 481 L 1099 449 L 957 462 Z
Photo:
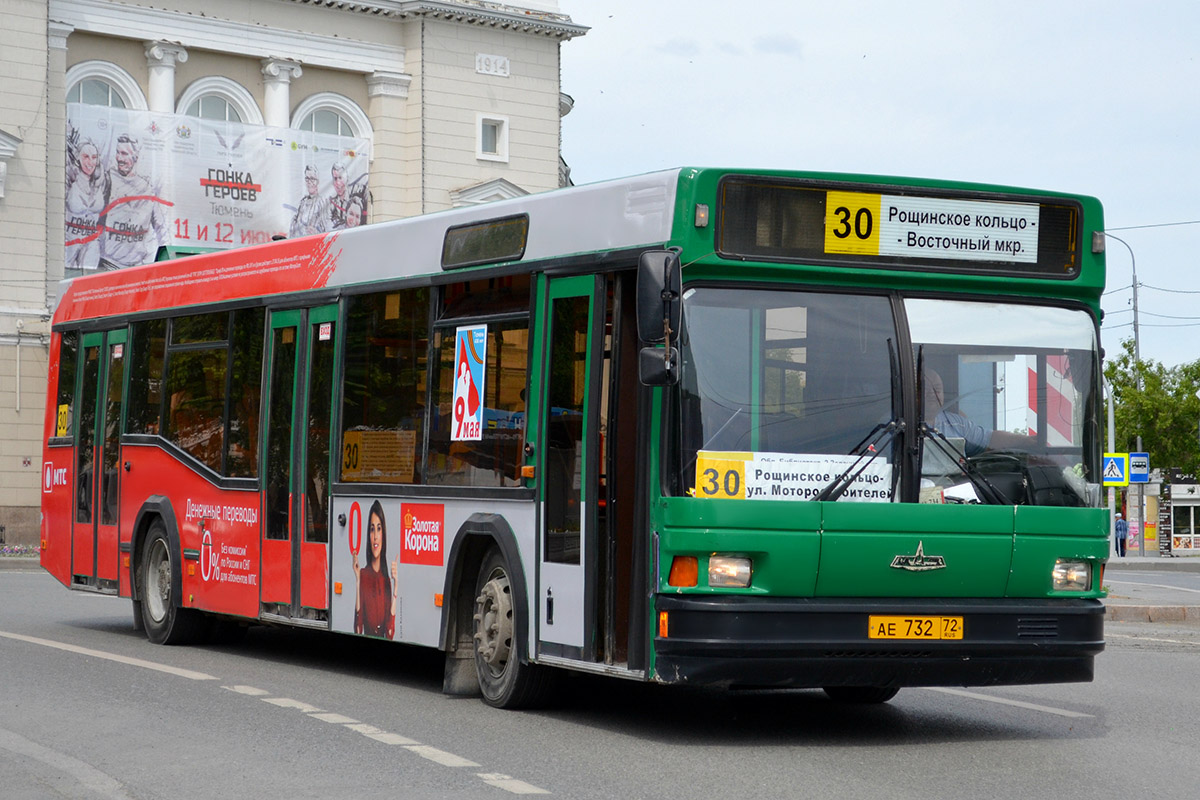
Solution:
M 286 540 L 292 483 L 292 407 L 296 329 L 276 329 L 272 337 L 271 408 L 266 428 L 266 537 Z

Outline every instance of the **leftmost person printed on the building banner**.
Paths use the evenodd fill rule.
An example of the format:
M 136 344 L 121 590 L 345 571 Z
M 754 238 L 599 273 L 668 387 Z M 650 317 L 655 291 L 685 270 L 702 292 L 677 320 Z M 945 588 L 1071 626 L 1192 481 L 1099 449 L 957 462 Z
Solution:
M 77 128 L 67 133 L 66 174 L 66 266 L 90 269 L 100 263 L 100 236 L 108 175 L 101 164 L 100 148 Z

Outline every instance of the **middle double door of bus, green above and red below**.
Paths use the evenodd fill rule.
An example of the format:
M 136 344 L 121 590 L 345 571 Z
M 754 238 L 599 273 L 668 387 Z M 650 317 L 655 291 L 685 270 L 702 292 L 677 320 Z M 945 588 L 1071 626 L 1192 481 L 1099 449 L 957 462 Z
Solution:
M 274 311 L 260 615 L 329 626 L 329 458 L 337 306 Z

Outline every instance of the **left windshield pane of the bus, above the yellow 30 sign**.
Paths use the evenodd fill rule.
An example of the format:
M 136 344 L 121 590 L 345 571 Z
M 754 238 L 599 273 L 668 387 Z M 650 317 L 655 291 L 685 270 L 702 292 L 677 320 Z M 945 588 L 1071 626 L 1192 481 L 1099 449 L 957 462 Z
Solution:
M 749 494 L 742 497 L 760 497 L 757 488 L 767 492 L 763 497 L 773 492 L 793 499 L 815 497 L 856 461 L 859 445 L 868 446 L 864 440 L 898 416 L 895 341 L 892 306 L 884 295 L 686 291 L 682 337 L 685 489 L 696 488 L 706 456 L 751 452 L 769 453 L 760 459 L 767 471 L 806 477 L 788 486 L 766 486 L 751 485 L 748 475 L 744 491 Z M 895 457 L 892 447 L 871 451 L 866 464 L 875 487 L 871 499 L 890 499 L 898 476 Z M 689 469 L 689 463 L 700 469 Z

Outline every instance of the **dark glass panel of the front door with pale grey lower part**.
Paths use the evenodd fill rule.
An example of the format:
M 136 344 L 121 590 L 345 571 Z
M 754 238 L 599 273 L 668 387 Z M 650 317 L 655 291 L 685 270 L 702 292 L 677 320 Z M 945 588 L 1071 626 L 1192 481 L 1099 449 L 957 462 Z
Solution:
M 588 297 L 560 297 L 552 302 L 551 337 L 546 419 L 546 560 L 578 564 Z

